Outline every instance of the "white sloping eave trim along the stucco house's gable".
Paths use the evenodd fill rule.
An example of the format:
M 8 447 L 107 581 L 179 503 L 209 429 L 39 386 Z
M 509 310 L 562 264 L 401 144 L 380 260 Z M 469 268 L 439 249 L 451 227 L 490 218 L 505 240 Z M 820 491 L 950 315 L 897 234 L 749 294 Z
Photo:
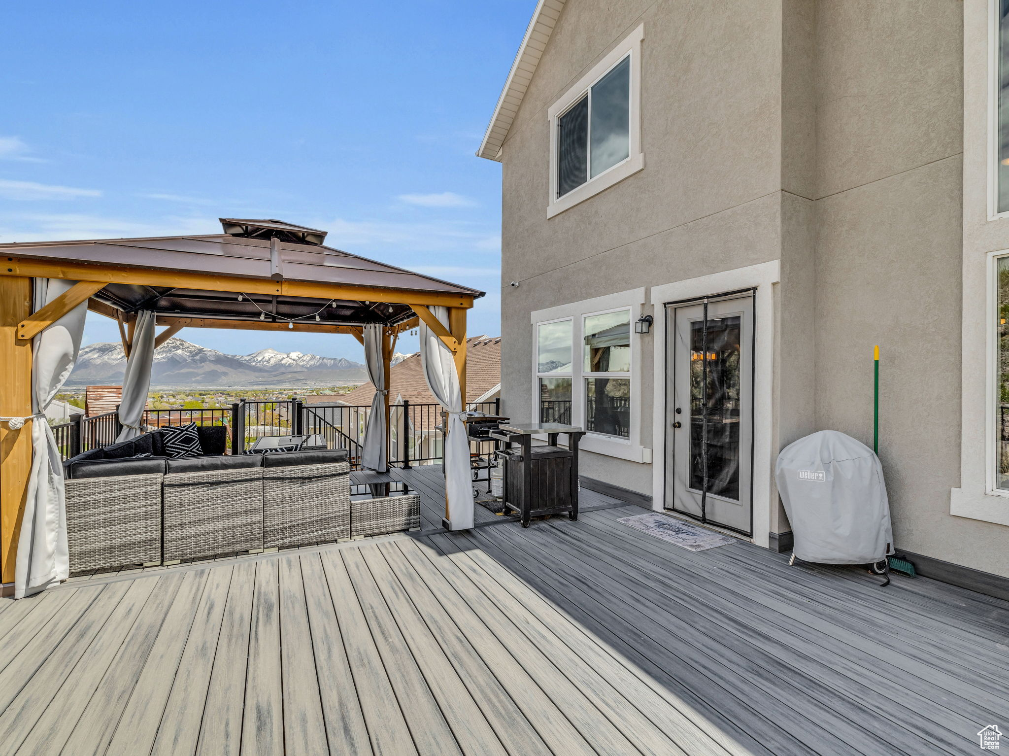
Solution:
M 539 0 L 536 4 L 533 18 L 526 28 L 526 36 L 522 39 L 519 52 L 504 82 L 504 88 L 497 98 L 497 106 L 490 118 L 490 124 L 483 134 L 480 148 L 476 150 L 477 157 L 500 160 L 501 144 L 504 143 L 509 129 L 512 128 L 516 113 L 519 112 L 519 106 L 522 105 L 522 99 L 529 88 L 529 82 L 536 73 L 536 67 L 543 57 L 547 42 L 550 41 L 550 34 L 563 8 L 564 0 Z

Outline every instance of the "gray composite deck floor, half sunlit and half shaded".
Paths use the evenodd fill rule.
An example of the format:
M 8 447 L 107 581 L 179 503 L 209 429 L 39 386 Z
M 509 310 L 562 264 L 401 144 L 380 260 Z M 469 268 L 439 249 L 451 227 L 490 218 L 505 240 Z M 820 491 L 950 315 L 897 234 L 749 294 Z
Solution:
M 0 602 L 0 754 L 964 754 L 1009 604 L 615 506 Z

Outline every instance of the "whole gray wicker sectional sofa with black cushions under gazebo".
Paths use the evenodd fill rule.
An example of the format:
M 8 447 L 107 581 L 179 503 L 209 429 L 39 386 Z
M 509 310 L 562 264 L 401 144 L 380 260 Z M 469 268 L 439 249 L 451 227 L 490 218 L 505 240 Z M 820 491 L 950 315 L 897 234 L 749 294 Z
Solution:
M 345 450 L 75 457 L 65 477 L 73 574 L 420 527 L 417 495 L 351 503 Z

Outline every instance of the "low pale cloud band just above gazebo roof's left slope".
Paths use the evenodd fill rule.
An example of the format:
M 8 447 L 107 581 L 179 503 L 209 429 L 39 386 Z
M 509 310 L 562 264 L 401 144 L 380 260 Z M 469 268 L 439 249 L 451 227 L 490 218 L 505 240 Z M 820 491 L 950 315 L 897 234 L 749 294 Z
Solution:
M 86 213 L 4 213 L 0 243 L 220 233 L 215 225 L 213 218 L 164 217 L 140 223 Z

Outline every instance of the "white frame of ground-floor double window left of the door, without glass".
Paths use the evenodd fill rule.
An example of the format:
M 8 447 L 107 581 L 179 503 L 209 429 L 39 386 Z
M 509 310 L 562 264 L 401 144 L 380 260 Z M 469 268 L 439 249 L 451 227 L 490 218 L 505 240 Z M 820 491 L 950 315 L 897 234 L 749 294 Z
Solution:
M 532 422 L 540 420 L 540 377 L 568 377 L 568 374 L 539 372 L 539 332 L 540 326 L 547 323 L 557 323 L 563 320 L 571 321 L 571 425 L 585 427 L 585 377 L 630 377 L 631 379 L 631 419 L 630 435 L 607 436 L 602 433 L 586 433 L 578 448 L 596 454 L 628 459 L 633 462 L 648 463 L 652 461 L 651 447 L 642 444 L 641 436 L 641 355 L 642 336 L 635 333 L 634 323 L 645 306 L 645 289 L 632 289 L 627 292 L 608 294 L 603 297 L 572 302 L 566 305 L 551 307 L 531 313 L 530 322 L 533 325 L 533 362 L 532 362 Z M 584 366 L 584 319 L 590 315 L 601 315 L 606 312 L 630 310 L 629 328 L 631 330 L 631 371 L 619 373 L 585 373 Z M 576 351 L 577 350 L 577 351 Z

